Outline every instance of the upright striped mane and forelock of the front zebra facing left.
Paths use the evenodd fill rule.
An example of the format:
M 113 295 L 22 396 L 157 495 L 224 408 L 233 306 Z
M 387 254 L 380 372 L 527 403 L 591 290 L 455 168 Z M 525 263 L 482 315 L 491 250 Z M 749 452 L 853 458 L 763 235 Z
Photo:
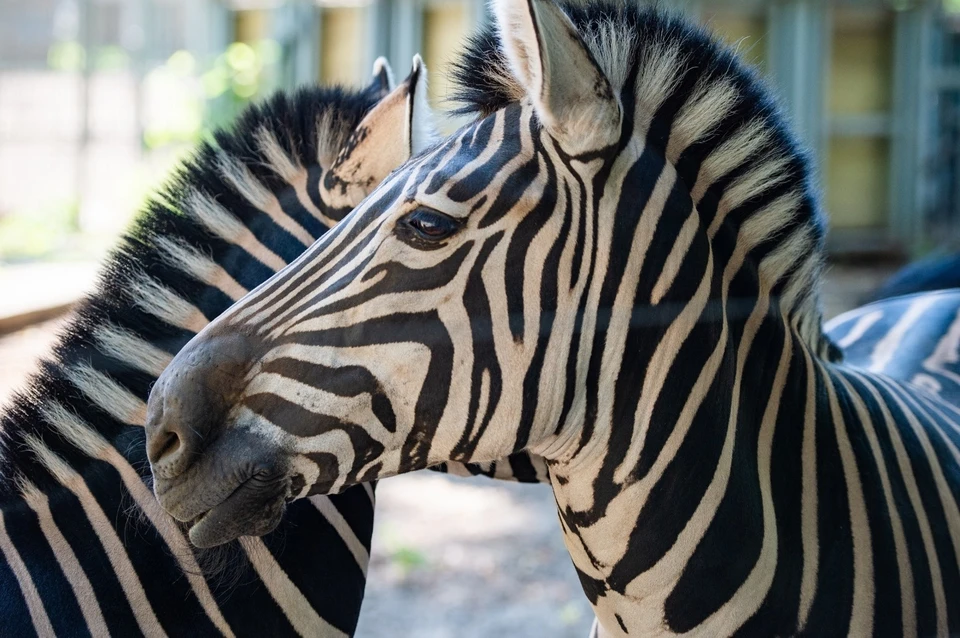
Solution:
M 663 151 L 701 213 L 722 210 L 735 233 L 747 234 L 755 264 L 788 245 L 768 260 L 777 262 L 771 295 L 789 306 L 808 343 L 835 358 L 819 307 L 826 232 L 819 194 L 769 88 L 733 50 L 678 14 L 617 0 L 559 4 L 614 92 L 633 107 L 635 131 Z M 459 114 L 484 117 L 525 93 L 495 25 L 468 41 L 452 78 Z

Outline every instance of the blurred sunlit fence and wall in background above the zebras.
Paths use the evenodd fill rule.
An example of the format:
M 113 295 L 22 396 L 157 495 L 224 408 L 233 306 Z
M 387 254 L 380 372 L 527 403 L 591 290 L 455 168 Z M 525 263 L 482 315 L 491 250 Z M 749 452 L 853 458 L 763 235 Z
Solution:
M 820 160 L 835 254 L 957 239 L 958 0 L 661 0 L 734 43 Z M 483 0 L 3 0 L 0 261 L 96 256 L 247 100 L 420 52 L 431 97 Z M 455 123 L 450 123 L 453 126 Z

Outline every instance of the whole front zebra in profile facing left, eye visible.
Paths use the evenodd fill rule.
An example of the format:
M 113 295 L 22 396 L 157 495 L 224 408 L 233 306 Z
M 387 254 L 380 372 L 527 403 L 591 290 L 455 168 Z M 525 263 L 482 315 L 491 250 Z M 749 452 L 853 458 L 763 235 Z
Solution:
M 163 507 L 222 542 L 527 452 L 605 635 L 960 631 L 960 406 L 824 333 L 824 217 L 768 91 L 658 9 L 493 9 L 476 121 L 158 380 Z

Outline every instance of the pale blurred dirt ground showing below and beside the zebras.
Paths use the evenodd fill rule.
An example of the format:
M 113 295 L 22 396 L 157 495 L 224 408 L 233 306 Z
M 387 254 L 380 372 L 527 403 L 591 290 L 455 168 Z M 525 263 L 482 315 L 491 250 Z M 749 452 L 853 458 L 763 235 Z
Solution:
M 889 272 L 830 269 L 825 314 L 856 306 Z M 0 404 L 60 321 L 0 337 Z M 546 486 L 432 472 L 382 481 L 367 588 L 360 638 L 579 638 L 592 621 Z

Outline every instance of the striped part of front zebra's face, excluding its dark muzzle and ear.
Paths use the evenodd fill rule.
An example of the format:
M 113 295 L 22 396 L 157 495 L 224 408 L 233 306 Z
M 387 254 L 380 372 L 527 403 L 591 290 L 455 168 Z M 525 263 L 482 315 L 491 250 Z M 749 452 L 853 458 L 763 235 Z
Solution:
M 224 318 L 256 343 L 237 421 L 293 455 L 295 496 L 557 429 L 604 162 L 539 129 L 519 105 L 464 129 Z

